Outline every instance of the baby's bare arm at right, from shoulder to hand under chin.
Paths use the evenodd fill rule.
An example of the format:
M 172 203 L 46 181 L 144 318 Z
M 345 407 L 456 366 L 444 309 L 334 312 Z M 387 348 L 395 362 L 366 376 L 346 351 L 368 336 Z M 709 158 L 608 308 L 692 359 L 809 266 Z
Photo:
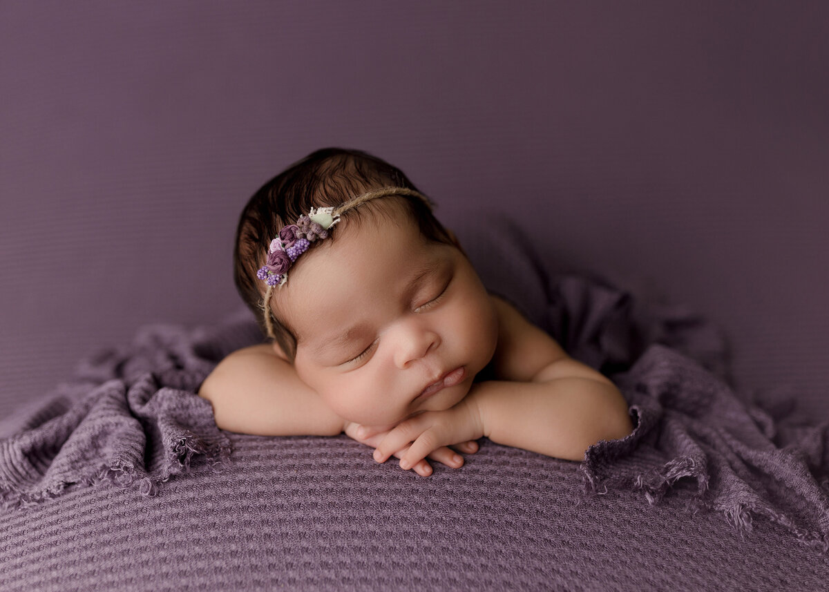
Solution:
M 494 362 L 498 376 L 507 380 L 482 382 L 452 409 L 398 425 L 378 446 L 378 461 L 387 459 L 390 449 L 414 442 L 400 463 L 409 468 L 445 439 L 482 435 L 498 444 L 582 460 L 592 444 L 631 432 L 627 402 L 611 381 L 569 357 L 509 304 L 495 303 L 499 344 Z

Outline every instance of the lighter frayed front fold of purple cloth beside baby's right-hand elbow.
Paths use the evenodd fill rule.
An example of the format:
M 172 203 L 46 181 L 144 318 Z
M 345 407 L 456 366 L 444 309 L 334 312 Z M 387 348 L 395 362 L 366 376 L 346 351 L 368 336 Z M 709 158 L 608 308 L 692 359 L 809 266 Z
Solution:
M 778 418 L 660 344 L 612 378 L 636 427 L 625 439 L 588 449 L 582 470 L 590 493 L 629 488 L 655 504 L 691 488 L 693 506 L 722 512 L 739 531 L 765 517 L 829 551 L 829 422 L 780 426 L 775 442 L 768 426 Z

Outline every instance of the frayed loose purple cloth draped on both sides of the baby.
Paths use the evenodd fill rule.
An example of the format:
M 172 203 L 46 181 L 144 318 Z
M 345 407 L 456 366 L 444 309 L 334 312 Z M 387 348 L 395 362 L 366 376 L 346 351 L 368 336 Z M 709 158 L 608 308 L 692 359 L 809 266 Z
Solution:
M 681 308 L 645 311 L 586 276 L 556 276 L 547 289 L 550 303 L 536 316 L 631 405 L 633 433 L 585 455 L 590 493 L 624 488 L 654 504 L 690 488 L 688 506 L 722 512 L 744 531 L 766 518 L 827 551 L 827 423 L 788 425 L 784 407 L 740 400 L 725 381 L 717 332 Z M 2 499 L 40 502 L 104 479 L 152 496 L 170 478 L 187 478 L 191 463 L 227 462 L 230 442 L 194 393 L 229 347 L 255 335 L 244 315 L 195 331 L 152 326 L 129 347 L 84 362 L 0 442 Z

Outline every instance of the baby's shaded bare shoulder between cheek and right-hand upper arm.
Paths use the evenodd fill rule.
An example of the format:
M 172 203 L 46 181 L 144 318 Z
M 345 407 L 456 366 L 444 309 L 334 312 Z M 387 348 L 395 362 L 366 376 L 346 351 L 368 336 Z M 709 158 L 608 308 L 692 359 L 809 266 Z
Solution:
M 504 298 L 490 294 L 498 320 L 498 343 L 492 362 L 502 380 L 530 381 L 567 353 L 548 333 L 531 323 Z

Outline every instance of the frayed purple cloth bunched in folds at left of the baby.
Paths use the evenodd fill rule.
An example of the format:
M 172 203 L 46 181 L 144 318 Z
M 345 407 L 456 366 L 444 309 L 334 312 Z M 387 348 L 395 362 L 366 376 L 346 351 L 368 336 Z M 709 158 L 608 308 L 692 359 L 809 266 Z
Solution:
M 248 314 L 193 331 L 153 325 L 128 347 L 81 362 L 0 440 L 0 502 L 41 502 L 104 480 L 153 495 L 191 466 L 221 463 L 229 440 L 196 390 L 222 357 L 258 337 Z

